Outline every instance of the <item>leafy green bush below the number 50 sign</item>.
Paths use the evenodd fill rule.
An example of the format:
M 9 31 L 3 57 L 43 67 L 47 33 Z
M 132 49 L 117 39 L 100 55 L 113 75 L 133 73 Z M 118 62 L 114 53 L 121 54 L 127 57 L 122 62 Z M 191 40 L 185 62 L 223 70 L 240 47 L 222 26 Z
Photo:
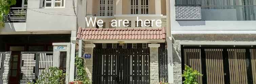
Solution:
M 58 67 L 50 67 L 50 72 L 42 72 L 35 84 L 65 84 L 65 73 Z M 30 84 L 30 83 L 29 83 Z

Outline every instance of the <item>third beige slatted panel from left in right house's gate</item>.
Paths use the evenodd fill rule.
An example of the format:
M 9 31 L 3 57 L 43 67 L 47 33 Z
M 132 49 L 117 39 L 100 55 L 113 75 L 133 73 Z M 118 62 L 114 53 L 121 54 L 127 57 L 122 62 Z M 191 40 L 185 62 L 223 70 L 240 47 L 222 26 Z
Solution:
M 248 84 L 245 49 L 228 49 L 230 84 Z

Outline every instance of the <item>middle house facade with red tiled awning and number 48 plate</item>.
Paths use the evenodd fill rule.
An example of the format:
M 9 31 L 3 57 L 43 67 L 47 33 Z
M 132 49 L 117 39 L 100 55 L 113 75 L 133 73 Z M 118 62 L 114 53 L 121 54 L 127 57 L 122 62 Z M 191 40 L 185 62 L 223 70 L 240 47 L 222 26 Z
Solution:
M 168 81 L 166 51 L 166 0 L 87 0 L 86 18 L 103 20 L 103 27 L 83 22 L 78 29 L 79 56 L 93 84 L 159 83 Z M 79 13 L 78 13 L 79 14 Z M 141 26 L 160 19 L 162 26 Z M 127 19 L 120 27 L 111 20 Z M 96 21 L 97 21 L 96 20 Z M 93 27 L 93 25 L 95 25 Z M 168 32 L 170 33 L 170 31 Z

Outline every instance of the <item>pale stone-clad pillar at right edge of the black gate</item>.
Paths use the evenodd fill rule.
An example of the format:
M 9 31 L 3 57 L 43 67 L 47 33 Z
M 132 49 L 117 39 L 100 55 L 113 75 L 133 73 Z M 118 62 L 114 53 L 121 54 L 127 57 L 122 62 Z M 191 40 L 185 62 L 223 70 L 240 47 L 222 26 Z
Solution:
M 150 48 L 150 84 L 159 82 L 158 76 L 158 47 L 160 44 L 148 44 Z

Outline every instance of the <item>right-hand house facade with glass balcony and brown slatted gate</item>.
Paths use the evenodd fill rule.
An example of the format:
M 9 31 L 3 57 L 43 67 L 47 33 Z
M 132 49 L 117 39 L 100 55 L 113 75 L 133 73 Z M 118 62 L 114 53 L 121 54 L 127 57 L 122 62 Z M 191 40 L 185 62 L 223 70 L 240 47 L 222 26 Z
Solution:
M 171 83 L 188 65 L 199 84 L 256 84 L 255 0 L 171 0 Z M 168 53 L 169 55 L 169 53 Z

